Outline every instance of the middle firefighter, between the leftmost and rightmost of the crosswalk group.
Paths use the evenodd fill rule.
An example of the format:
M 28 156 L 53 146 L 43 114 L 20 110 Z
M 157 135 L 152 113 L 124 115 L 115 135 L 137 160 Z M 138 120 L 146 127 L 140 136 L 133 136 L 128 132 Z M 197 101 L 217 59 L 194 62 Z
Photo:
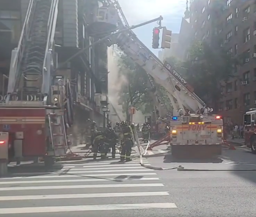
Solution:
M 116 157 L 116 143 L 118 140 L 118 136 L 116 135 L 114 129 L 111 126 L 111 123 L 108 123 L 107 130 L 105 131 L 105 144 L 106 144 L 106 155 L 108 154 L 108 150 L 112 149 L 112 158 Z

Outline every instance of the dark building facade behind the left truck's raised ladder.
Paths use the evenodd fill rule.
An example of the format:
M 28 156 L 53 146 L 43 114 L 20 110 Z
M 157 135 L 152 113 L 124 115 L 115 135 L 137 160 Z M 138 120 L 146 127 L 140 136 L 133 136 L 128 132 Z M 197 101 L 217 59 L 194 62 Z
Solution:
M 0 102 L 7 94 L 11 52 L 18 46 L 29 0 L 0 0 Z M 94 119 L 103 124 L 101 107 L 108 105 L 107 45 L 97 44 L 88 49 L 95 37 L 89 36 L 88 25 L 92 23 L 92 12 L 97 11 L 97 1 L 62 0 L 58 5 L 55 31 L 55 74 L 65 74 L 71 81 L 74 105 L 75 135 L 84 129 L 84 122 Z M 75 53 L 80 55 L 66 62 Z M 63 63 L 65 63 L 63 65 Z M 82 130 L 79 134 L 83 134 Z

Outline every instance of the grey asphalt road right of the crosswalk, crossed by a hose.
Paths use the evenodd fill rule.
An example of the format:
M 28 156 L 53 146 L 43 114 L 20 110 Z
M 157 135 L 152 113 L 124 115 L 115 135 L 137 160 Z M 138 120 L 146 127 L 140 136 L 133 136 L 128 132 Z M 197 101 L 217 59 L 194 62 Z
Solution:
M 158 146 L 155 149 L 166 149 Z M 172 155 L 148 157 L 152 166 L 187 169 L 255 169 L 256 156 L 243 148 L 223 149 L 212 159 L 174 160 Z M 256 216 L 256 171 L 156 171 L 177 209 L 172 216 Z

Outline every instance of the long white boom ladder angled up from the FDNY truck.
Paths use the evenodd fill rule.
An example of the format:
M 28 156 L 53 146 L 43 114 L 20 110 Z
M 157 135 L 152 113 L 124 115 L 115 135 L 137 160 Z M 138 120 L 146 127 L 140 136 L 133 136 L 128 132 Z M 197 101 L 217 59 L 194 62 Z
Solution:
M 110 1 L 109 1 L 110 2 Z M 127 20 L 117 1 L 111 2 L 118 12 L 119 25 L 128 27 Z M 120 26 L 121 26 L 120 25 Z M 120 28 L 120 27 L 119 27 Z M 168 98 L 174 107 L 173 115 L 182 116 L 190 113 L 197 113 L 204 110 L 204 101 L 191 92 L 184 83 L 177 78 L 175 70 L 170 72 L 164 64 L 137 38 L 132 30 L 114 34 L 110 41 L 130 56 L 137 64 L 152 76 L 154 82 L 158 83 L 168 92 Z M 207 112 L 207 111 L 205 111 Z

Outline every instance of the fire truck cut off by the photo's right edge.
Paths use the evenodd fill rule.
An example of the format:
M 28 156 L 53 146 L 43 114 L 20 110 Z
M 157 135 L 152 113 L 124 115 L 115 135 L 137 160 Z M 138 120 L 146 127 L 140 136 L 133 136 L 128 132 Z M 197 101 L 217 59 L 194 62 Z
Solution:
M 243 115 L 244 121 L 244 145 L 251 149 L 253 154 L 256 154 L 256 108 L 250 108 Z

